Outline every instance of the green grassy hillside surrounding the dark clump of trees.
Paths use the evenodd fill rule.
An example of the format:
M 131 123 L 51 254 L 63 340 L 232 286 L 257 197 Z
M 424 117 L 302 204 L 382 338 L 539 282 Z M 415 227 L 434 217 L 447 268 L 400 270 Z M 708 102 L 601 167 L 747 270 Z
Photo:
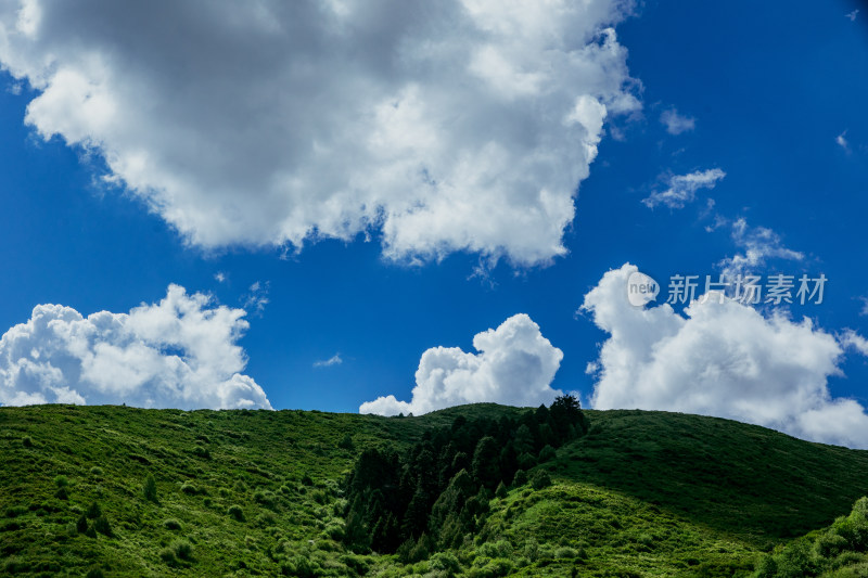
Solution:
M 460 549 L 408 565 L 344 550 L 340 480 L 361 449 L 520 411 L 0 408 L 0 573 L 728 576 L 868 493 L 868 452 L 711 418 L 591 411 L 589 435 L 538 466 L 554 484 L 492 500 Z

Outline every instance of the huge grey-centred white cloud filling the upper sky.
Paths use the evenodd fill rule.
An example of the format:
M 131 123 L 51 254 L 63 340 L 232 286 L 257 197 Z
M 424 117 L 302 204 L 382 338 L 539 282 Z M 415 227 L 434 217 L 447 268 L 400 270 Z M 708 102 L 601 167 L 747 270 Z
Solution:
M 603 121 L 640 108 L 617 0 L 4 5 L 26 123 L 204 247 L 547 262 Z

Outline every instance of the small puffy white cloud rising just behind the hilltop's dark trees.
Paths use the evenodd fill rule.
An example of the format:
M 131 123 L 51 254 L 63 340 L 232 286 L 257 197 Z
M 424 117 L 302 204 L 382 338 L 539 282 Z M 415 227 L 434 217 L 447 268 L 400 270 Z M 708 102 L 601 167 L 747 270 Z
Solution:
M 496 330 L 473 337 L 478 354 L 458 347 L 433 347 L 422 354 L 409 402 L 395 396 L 367 401 L 359 413 L 396 415 L 461 403 L 496 402 L 509 406 L 550 403 L 559 389 L 551 381 L 563 352 L 542 336 L 539 325 L 524 313 L 512 316 Z

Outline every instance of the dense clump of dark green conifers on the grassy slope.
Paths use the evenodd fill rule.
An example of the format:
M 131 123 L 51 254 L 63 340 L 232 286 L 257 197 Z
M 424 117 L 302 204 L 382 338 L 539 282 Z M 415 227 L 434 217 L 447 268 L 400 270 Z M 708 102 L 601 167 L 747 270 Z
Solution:
M 528 468 L 587 431 L 578 400 L 561 396 L 518 420 L 459 416 L 403 455 L 367 449 L 347 479 L 345 542 L 406 560 L 459 545 L 482 524 L 495 493 L 525 483 Z

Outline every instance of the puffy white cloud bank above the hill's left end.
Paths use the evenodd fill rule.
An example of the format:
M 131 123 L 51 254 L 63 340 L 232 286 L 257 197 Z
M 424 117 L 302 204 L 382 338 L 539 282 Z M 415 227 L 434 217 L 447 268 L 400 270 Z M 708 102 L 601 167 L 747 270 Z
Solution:
M 244 314 L 178 285 L 129 313 L 38 305 L 0 338 L 0 403 L 270 409 L 241 373 Z

